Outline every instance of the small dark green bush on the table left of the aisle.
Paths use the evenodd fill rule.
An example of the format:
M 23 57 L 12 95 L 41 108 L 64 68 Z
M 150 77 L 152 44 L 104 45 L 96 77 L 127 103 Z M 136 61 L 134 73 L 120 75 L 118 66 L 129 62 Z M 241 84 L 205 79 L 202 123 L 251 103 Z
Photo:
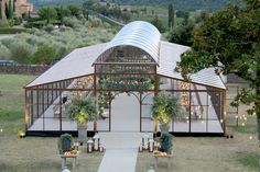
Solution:
M 69 134 L 63 134 L 59 136 L 57 141 L 57 147 L 59 154 L 63 154 L 65 151 L 68 151 L 73 148 L 73 137 Z

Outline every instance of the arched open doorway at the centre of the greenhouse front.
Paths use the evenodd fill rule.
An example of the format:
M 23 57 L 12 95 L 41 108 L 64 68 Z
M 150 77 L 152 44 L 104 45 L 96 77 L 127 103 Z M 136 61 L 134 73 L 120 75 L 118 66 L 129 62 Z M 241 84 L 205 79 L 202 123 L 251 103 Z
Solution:
M 111 131 L 140 131 L 139 108 L 134 95 L 118 94 L 111 103 Z

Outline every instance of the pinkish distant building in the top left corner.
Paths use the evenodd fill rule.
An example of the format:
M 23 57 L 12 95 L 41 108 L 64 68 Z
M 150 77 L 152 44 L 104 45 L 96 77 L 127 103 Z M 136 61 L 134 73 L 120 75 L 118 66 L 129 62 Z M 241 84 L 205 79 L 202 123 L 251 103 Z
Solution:
M 1 18 L 0 20 L 7 19 L 6 16 L 6 4 L 9 7 L 9 0 L 0 0 Z M 15 13 L 20 14 L 22 18 L 26 16 L 29 12 L 33 11 L 33 4 L 29 3 L 26 0 L 11 0 L 12 8 L 13 3 L 15 5 Z

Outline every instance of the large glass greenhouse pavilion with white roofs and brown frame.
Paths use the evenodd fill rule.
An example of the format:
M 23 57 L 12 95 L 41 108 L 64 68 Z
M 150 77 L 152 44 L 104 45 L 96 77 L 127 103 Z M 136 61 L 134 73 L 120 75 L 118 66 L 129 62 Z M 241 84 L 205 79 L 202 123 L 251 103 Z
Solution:
M 224 135 L 226 87 L 214 68 L 185 82 L 175 72 L 189 47 L 161 41 L 150 23 L 132 22 L 109 43 L 77 48 L 25 87 L 28 135 L 76 133 L 66 114 L 74 98 L 91 96 L 98 121 L 88 131 L 160 131 L 152 118 L 153 96 L 165 92 L 178 98 L 180 116 L 170 131 L 184 135 Z

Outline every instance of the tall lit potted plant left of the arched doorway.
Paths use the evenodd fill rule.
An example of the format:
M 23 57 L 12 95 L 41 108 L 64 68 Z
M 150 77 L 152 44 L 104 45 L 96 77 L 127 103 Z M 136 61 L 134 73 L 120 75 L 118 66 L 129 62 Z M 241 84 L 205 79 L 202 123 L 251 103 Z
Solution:
M 86 142 L 87 122 L 97 119 L 96 105 L 90 99 L 75 98 L 68 105 L 66 105 L 66 112 L 71 119 L 77 121 L 78 141 L 80 144 Z

